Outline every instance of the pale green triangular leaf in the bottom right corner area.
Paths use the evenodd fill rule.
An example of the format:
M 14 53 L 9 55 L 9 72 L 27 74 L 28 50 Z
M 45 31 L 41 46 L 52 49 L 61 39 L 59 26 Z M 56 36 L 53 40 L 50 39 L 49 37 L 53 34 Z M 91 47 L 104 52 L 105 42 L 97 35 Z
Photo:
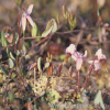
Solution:
M 96 98 L 94 100 L 94 103 L 95 105 L 100 105 L 101 108 L 105 110 L 105 103 L 103 103 L 103 100 L 102 100 L 101 90 L 99 90 L 98 94 L 96 95 Z

